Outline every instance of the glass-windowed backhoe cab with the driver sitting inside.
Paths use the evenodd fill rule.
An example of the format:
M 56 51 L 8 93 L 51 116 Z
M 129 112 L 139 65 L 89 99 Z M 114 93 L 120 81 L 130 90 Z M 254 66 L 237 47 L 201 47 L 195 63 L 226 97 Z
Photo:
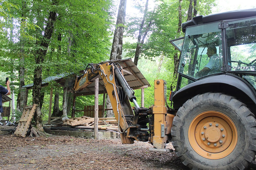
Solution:
M 256 89 L 256 11 L 248 11 L 197 16 L 182 24 L 185 37 L 170 41 L 181 52 L 176 91 L 227 73 Z

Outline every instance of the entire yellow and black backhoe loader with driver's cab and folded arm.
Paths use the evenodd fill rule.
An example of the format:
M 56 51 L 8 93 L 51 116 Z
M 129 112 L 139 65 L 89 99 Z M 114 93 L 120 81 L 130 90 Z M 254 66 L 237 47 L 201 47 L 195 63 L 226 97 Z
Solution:
M 196 16 L 182 31 L 170 41 L 181 52 L 172 108 L 165 80 L 154 82 L 154 105 L 139 107 L 118 60 L 89 64 L 74 90 L 102 78 L 122 143 L 170 152 L 172 142 L 190 169 L 246 169 L 256 153 L 256 8 Z

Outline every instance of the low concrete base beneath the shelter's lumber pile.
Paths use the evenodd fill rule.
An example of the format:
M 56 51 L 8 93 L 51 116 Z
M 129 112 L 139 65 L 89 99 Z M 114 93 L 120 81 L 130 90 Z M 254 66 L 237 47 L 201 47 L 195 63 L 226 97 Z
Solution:
M 46 133 L 59 135 L 59 136 L 74 136 L 74 137 L 83 137 L 86 139 L 94 139 L 94 132 L 81 132 L 81 131 L 67 131 L 67 130 L 46 130 Z M 111 131 L 99 131 L 98 139 L 115 139 L 120 138 L 120 135 Z

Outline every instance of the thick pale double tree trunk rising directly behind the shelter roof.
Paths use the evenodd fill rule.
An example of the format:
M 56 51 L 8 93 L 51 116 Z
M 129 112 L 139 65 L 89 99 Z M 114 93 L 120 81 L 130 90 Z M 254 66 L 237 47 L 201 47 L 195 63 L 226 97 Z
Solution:
M 118 13 L 117 13 L 117 23 L 115 26 L 115 32 L 114 32 L 114 38 L 110 53 L 110 60 L 116 60 L 117 58 L 122 58 L 122 41 L 123 39 L 123 25 L 125 24 L 125 11 L 126 11 L 126 0 L 120 0 Z M 120 25 L 122 24 L 122 25 Z M 120 38 L 122 36 L 122 38 Z M 118 45 L 121 45 L 121 47 L 118 48 Z

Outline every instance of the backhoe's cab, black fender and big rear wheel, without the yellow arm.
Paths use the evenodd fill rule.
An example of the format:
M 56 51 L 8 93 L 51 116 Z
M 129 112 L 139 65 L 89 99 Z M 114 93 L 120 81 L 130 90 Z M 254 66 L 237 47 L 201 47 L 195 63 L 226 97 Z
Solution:
M 175 152 L 190 169 L 246 169 L 256 155 L 256 8 L 196 16 L 182 31 L 171 41 L 181 52 Z

